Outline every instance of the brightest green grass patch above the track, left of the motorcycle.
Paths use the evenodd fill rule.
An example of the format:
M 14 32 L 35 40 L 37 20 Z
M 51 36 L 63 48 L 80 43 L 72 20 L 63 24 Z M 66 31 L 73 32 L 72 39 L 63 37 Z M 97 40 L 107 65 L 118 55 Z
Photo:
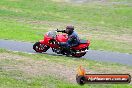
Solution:
M 38 41 L 43 38 L 45 30 L 36 30 L 32 25 L 19 23 L 14 20 L 5 20 L 0 21 L 0 38 L 2 39 L 13 39 L 21 41 Z

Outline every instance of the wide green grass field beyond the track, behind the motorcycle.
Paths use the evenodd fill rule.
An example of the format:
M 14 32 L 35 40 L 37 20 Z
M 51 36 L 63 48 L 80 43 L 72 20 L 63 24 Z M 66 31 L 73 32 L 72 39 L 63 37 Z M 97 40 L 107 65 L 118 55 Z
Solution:
M 112 2 L 113 0 L 107 3 L 70 5 L 51 0 L 1 0 L 0 38 L 35 42 L 43 39 L 43 34 L 51 28 L 56 29 L 58 25 L 64 28 L 66 24 L 74 24 L 81 29 L 77 31 L 83 32 L 83 29 L 83 34 L 92 34 L 91 49 L 132 53 L 131 42 L 94 37 L 96 30 L 92 29 L 97 29 L 99 36 L 102 32 L 107 32 L 108 36 L 126 34 L 132 37 L 132 7 Z M 115 2 L 132 3 L 131 0 Z

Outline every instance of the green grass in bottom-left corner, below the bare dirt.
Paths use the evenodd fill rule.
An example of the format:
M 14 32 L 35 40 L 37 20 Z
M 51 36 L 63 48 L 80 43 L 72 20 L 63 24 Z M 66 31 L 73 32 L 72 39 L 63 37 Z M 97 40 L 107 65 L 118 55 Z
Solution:
M 53 76 L 25 77 L 26 74 L 20 71 L 4 71 L 0 73 L 0 87 L 4 88 L 64 88 L 79 87 L 78 85 L 68 84 Z M 14 75 L 14 76 L 13 76 Z M 18 76 L 18 77 L 17 77 Z M 86 87 L 86 86 L 85 86 Z

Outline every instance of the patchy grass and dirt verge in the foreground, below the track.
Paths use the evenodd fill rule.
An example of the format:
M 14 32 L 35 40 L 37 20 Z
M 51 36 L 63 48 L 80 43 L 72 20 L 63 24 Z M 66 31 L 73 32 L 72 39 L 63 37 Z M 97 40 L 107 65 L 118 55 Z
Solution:
M 0 49 L 0 87 L 6 88 L 131 88 L 131 84 L 86 84 L 75 82 L 79 65 L 87 73 L 129 73 L 132 67 L 45 54 L 26 54 Z

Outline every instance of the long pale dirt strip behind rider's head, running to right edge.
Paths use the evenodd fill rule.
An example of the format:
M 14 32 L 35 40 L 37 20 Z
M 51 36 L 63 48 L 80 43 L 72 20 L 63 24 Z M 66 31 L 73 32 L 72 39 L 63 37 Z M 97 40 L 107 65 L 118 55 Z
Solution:
M 103 32 L 101 29 L 93 29 L 87 27 L 85 24 L 82 24 L 81 26 L 73 23 L 63 23 L 63 22 L 50 22 L 50 21 L 33 21 L 33 20 L 18 20 L 19 22 L 26 22 L 28 24 L 33 25 L 47 25 L 49 29 L 47 30 L 55 30 L 55 29 L 65 29 L 67 25 L 74 25 L 75 29 L 78 31 L 78 34 L 82 38 L 88 38 L 88 39 L 102 39 L 102 40 L 112 40 L 112 41 L 118 41 L 118 42 L 126 42 L 126 43 L 132 43 L 132 35 L 130 34 L 112 34 L 111 32 Z M 36 28 L 35 28 L 36 29 Z M 44 28 L 42 28 L 44 29 Z

